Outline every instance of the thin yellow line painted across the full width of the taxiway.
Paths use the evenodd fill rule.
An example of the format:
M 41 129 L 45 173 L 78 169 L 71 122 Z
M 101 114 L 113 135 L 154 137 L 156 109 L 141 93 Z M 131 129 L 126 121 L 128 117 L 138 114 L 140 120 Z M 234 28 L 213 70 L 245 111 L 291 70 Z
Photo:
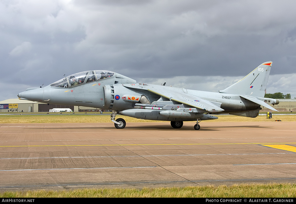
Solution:
M 96 146 L 157 146 L 157 145 L 166 146 L 166 145 L 228 145 L 228 144 L 229 145 L 233 145 L 233 144 L 265 145 L 265 144 L 296 144 L 296 142 L 181 143 L 181 144 L 56 144 L 56 145 L 4 145 L 0 147 L 96 147 Z

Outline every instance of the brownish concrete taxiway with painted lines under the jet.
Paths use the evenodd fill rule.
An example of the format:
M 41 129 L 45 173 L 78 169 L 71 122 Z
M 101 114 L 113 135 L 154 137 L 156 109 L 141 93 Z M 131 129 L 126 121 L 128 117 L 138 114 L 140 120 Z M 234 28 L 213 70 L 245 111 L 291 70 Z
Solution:
M 296 122 L 0 124 L 0 190 L 296 181 Z

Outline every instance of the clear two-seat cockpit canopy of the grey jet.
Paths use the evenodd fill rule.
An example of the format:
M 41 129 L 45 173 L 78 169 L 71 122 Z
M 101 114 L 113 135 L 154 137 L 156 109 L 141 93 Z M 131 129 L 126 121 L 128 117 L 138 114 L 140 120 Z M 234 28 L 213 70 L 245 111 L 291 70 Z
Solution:
M 90 83 L 93 81 L 100 81 L 104 78 L 109 78 L 112 76 L 114 76 L 114 72 L 112 71 L 106 71 L 106 70 L 84 71 L 84 72 L 72 74 L 63 79 L 60 79 L 59 81 L 56 81 L 50 84 L 50 86 L 69 88 L 69 87 L 77 86 L 80 84 Z

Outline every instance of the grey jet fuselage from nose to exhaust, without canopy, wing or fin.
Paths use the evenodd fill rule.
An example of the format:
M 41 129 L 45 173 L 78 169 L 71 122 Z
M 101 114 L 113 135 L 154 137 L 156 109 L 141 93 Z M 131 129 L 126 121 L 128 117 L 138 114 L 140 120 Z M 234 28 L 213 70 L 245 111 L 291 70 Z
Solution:
M 32 101 L 43 103 L 86 106 L 121 111 L 132 109 L 136 103 L 141 103 L 141 96 L 145 96 L 149 102 L 155 102 L 157 104 L 156 101 L 160 99 L 160 96 L 147 91 L 147 88 L 151 86 L 160 86 L 161 88 L 165 88 L 171 92 L 174 92 L 175 89 L 179 89 L 186 91 L 188 94 L 196 95 L 199 98 L 211 102 L 221 103 L 221 108 L 224 109 L 222 113 L 248 111 L 260 107 L 260 105 L 234 94 L 196 91 L 150 84 L 137 84 L 139 87 L 142 87 L 142 89 L 129 89 L 124 85 L 131 84 L 117 83 L 109 85 L 107 82 L 114 82 L 114 80 L 110 78 L 104 83 L 94 82 L 70 88 L 45 86 L 44 88 L 36 88 L 24 91 L 18 96 L 19 98 L 30 99 Z M 169 99 L 167 101 L 171 104 L 178 104 L 177 102 L 169 101 Z

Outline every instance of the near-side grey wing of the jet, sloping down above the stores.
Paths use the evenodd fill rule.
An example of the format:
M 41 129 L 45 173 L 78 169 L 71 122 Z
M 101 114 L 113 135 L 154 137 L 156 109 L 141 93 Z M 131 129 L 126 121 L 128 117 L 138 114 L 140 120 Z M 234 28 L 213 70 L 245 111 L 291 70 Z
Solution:
M 213 104 L 212 102 L 201 99 L 195 95 L 185 93 L 182 89 L 168 90 L 170 87 L 156 88 L 155 86 L 149 86 L 147 89 L 149 92 L 168 98 L 171 101 L 179 102 L 180 104 L 186 104 L 200 109 L 200 113 L 216 113 L 224 111 L 221 107 Z

